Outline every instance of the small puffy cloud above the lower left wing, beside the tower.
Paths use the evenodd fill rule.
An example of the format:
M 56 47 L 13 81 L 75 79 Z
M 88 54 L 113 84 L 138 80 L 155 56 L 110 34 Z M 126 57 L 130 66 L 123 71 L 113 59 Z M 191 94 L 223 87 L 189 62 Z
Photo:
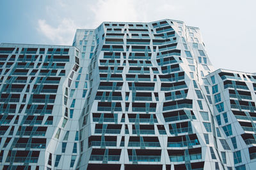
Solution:
M 70 45 L 74 38 L 77 25 L 74 20 L 63 18 L 57 27 L 47 24 L 46 20 L 38 20 L 38 31 L 54 44 Z

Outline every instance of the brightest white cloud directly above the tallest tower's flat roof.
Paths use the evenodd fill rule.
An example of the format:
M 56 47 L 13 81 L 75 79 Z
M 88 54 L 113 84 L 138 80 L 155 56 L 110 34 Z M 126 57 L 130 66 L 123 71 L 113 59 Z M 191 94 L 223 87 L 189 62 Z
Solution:
M 163 5 L 164 4 L 164 5 Z M 152 22 L 173 18 L 173 14 L 182 10 L 180 4 L 170 3 L 168 0 L 98 0 L 90 4 L 93 25 L 99 26 L 102 22 Z

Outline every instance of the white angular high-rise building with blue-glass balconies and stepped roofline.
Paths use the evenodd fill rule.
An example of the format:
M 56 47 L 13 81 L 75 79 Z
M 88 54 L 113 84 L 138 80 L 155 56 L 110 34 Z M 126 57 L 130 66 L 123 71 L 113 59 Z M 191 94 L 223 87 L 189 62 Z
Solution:
M 197 27 L 104 22 L 0 45 L 0 169 L 255 169 L 256 74 L 214 71 Z

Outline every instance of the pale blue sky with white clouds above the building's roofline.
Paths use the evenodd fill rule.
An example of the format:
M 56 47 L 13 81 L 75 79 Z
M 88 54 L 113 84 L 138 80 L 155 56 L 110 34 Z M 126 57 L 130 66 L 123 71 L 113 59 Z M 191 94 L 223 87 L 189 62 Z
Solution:
M 215 69 L 256 73 L 255 0 L 0 1 L 0 43 L 72 45 L 76 29 L 170 18 L 199 27 Z

